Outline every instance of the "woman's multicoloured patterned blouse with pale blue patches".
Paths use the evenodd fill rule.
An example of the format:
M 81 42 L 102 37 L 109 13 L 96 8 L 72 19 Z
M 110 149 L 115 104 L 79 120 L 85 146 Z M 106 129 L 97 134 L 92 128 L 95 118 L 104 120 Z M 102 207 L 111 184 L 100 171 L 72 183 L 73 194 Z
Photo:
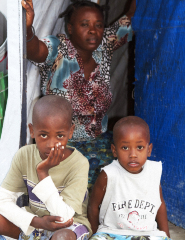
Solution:
M 84 77 L 82 58 L 63 34 L 41 39 L 48 47 L 48 57 L 39 66 L 43 95 L 56 94 L 72 104 L 75 131 L 73 141 L 96 138 L 107 130 L 106 112 L 112 101 L 110 66 L 113 50 L 132 39 L 126 16 L 104 30 L 101 45 L 92 54 L 97 67 Z

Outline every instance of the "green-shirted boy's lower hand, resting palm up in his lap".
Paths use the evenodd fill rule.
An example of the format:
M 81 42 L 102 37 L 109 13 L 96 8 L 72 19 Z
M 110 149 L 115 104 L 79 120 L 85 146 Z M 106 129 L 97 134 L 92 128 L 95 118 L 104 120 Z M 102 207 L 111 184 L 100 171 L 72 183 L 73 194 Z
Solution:
M 60 223 L 61 221 L 63 221 L 61 217 L 55 216 L 34 217 L 30 225 L 34 228 L 41 228 L 54 232 L 61 228 L 69 227 L 73 224 L 73 218 L 69 219 L 65 223 Z

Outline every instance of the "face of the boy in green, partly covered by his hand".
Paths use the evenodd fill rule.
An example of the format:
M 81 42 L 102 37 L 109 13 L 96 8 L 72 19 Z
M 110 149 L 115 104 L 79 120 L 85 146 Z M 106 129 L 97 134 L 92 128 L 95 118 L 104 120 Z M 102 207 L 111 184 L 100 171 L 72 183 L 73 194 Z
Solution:
M 39 118 L 35 125 L 29 124 L 30 135 L 35 138 L 37 148 L 42 160 L 48 158 L 52 148 L 56 143 L 61 143 L 65 147 L 68 139 L 72 138 L 74 125 L 69 125 L 65 117 L 60 115 L 46 116 Z

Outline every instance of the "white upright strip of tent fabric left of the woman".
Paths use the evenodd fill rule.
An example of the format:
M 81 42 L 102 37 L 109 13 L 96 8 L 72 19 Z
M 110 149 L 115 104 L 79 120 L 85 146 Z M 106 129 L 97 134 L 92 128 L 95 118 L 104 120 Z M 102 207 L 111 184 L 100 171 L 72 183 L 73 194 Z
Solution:
M 13 5 L 14 7 L 9 7 Z M 12 21 L 9 22 L 8 29 L 8 49 L 9 49 L 9 86 L 8 86 L 8 102 L 3 124 L 3 131 L 0 140 L 0 182 L 4 178 L 12 159 L 12 155 L 17 151 L 20 137 L 21 123 L 21 101 L 20 94 L 22 88 L 22 38 L 20 21 L 22 12 L 20 11 L 20 1 L 9 0 L 7 4 L 7 19 L 9 16 Z M 17 17 L 19 16 L 19 17 Z M 11 31 L 10 31 L 11 28 Z M 17 45 L 16 48 L 13 46 Z

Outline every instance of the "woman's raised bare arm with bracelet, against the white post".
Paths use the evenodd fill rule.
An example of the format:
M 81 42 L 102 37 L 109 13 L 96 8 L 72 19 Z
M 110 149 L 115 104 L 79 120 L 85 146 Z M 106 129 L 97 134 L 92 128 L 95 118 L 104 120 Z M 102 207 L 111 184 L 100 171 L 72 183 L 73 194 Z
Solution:
M 47 46 L 34 36 L 32 31 L 32 24 L 34 19 L 34 9 L 32 0 L 27 0 L 26 2 L 22 0 L 22 6 L 26 10 L 26 27 L 27 27 L 27 58 L 41 63 L 44 62 L 48 56 Z M 33 39 L 31 39 L 33 37 Z M 31 39 L 31 41 L 29 41 Z

